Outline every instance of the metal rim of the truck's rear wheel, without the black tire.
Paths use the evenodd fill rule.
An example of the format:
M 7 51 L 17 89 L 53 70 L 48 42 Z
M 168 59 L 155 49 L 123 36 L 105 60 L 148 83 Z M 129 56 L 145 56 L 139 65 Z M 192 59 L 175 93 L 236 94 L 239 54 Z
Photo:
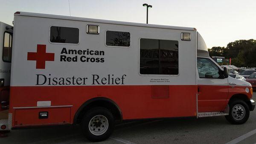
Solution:
M 95 136 L 100 136 L 108 130 L 108 119 L 105 116 L 97 115 L 90 119 L 89 130 Z

